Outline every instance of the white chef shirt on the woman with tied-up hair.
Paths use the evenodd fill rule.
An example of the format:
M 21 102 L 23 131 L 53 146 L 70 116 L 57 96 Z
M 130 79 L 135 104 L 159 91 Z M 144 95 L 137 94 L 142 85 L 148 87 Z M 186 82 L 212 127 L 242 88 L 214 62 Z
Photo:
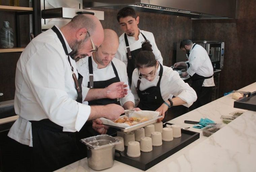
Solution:
M 148 81 L 145 78 L 141 78 L 141 83 L 139 90 L 143 91 L 149 87 L 157 86 L 159 80 L 160 66 L 158 66 L 156 77 L 153 81 Z M 136 92 L 137 81 L 139 79 L 138 69 L 134 69 L 132 73 L 132 94 L 134 95 L 135 105 L 139 103 L 139 97 Z M 187 102 L 183 104 L 189 107 L 196 101 L 197 96 L 193 88 L 191 88 L 187 83 L 185 83 L 177 71 L 173 71 L 171 68 L 163 66 L 163 75 L 160 81 L 161 95 L 164 101 L 168 98 L 180 97 L 183 101 Z

